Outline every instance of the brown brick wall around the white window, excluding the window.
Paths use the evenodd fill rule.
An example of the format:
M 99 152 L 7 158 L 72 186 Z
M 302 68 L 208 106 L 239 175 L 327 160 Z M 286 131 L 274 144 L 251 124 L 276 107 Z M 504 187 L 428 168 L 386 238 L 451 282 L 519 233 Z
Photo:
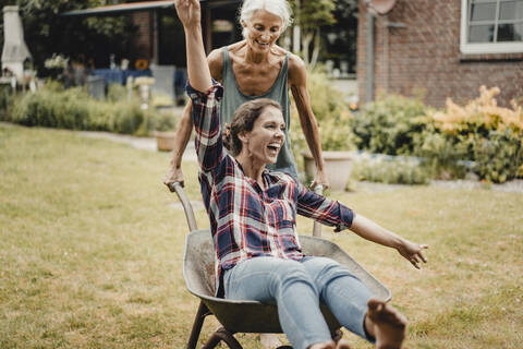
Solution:
M 365 101 L 367 13 L 360 1 L 357 82 Z M 425 94 L 425 103 L 445 106 L 447 97 L 463 103 L 478 96 L 481 85 L 498 86 L 498 104 L 523 97 L 523 53 L 462 55 L 461 0 L 399 0 L 388 21 L 405 27 L 386 27 L 375 19 L 374 92 L 405 96 Z M 388 36 L 387 36 L 388 32 Z M 387 49 L 388 47 L 388 49 Z

